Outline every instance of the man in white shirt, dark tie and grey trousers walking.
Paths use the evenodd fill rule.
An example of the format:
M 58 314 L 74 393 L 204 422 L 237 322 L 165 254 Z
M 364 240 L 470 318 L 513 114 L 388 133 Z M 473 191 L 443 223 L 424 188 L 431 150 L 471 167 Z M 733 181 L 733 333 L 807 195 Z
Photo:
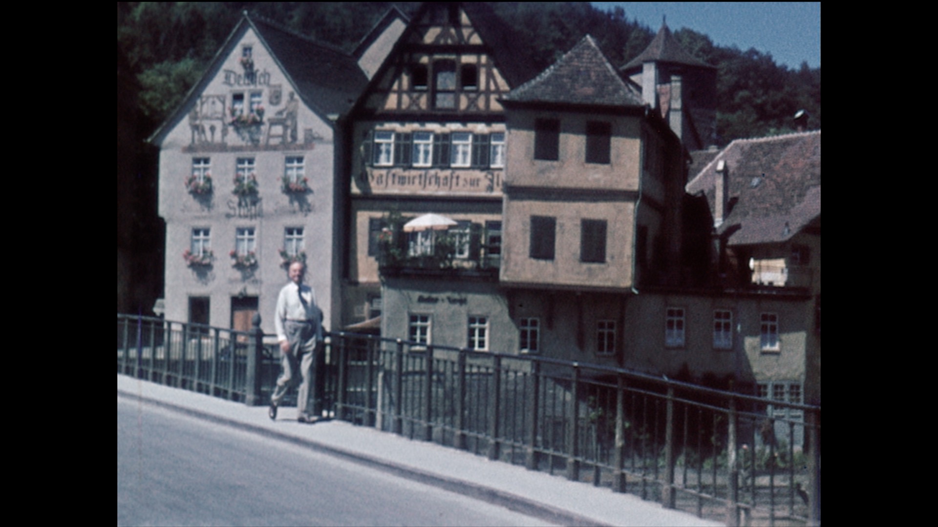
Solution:
M 290 384 L 296 383 L 297 375 L 302 378 L 296 400 L 296 420 L 315 423 L 318 417 L 310 414 L 310 390 L 316 393 L 316 352 L 323 339 L 323 312 L 316 306 L 316 294 L 303 284 L 306 265 L 301 262 L 290 264 L 290 283 L 283 286 L 277 297 L 277 314 L 274 325 L 280 340 L 280 377 L 270 397 L 271 419 L 277 418 L 277 406 L 286 395 Z

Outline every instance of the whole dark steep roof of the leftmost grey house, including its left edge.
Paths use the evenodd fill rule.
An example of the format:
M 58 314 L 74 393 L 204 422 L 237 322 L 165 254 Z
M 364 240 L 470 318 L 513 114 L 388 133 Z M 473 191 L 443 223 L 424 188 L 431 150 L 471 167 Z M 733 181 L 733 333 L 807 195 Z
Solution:
M 189 89 L 183 102 L 157 128 L 148 142 L 162 141 L 203 93 L 208 83 L 218 75 L 221 64 L 250 28 L 254 29 L 261 43 L 294 84 L 296 95 L 326 122 L 329 114 L 348 113 L 368 83 L 365 73 L 358 68 L 352 55 L 335 46 L 297 35 L 270 21 L 250 17 L 245 12 L 218 53 L 215 53 L 208 68 L 205 68 L 202 79 Z

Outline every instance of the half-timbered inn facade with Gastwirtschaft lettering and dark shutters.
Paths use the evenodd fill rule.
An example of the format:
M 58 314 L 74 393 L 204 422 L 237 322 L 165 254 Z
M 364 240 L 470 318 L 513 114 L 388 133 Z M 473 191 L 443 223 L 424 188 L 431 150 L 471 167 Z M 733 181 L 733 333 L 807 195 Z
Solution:
M 497 269 L 507 152 L 499 98 L 526 80 L 507 56 L 509 36 L 485 5 L 428 3 L 372 77 L 351 118 L 346 324 L 381 311 L 379 242 L 391 218 L 444 215 L 457 222 L 456 264 Z M 403 256 L 434 250 L 411 237 L 399 240 Z

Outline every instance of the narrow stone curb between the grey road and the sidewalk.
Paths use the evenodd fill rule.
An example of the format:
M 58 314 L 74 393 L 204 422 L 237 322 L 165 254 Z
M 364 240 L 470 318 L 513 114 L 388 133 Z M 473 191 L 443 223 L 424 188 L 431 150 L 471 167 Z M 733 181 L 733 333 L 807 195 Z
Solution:
M 446 477 L 439 474 L 431 474 L 429 472 L 421 471 L 414 467 L 409 467 L 400 463 L 388 461 L 386 459 L 374 458 L 366 454 L 337 448 L 335 446 L 329 446 L 327 444 L 322 444 L 310 439 L 296 437 L 295 435 L 266 429 L 265 427 L 259 427 L 257 425 L 250 425 L 248 423 L 243 423 L 234 419 L 219 417 L 215 414 L 208 414 L 206 412 L 193 410 L 185 406 L 179 406 L 159 399 L 147 398 L 120 389 L 117 390 L 117 395 L 119 397 L 136 399 L 147 404 L 159 406 L 160 408 L 171 410 L 179 414 L 186 414 L 190 417 L 204 419 L 218 425 L 240 429 L 272 439 L 304 446 L 322 454 L 352 461 L 359 465 L 380 470 L 387 474 L 393 474 L 404 479 L 416 481 L 418 483 L 423 483 L 425 485 L 431 485 L 438 489 L 446 489 L 451 492 L 456 492 L 463 496 L 480 500 L 488 504 L 501 505 L 514 512 L 526 514 L 528 516 L 532 516 L 537 519 L 543 519 L 545 521 L 551 521 L 552 523 L 556 523 L 558 525 L 570 525 L 577 527 L 609 527 L 612 525 L 610 523 L 604 523 L 596 519 L 586 518 L 579 514 L 574 514 L 548 504 L 541 504 L 534 500 L 529 500 L 504 490 L 492 489 L 490 487 L 485 487 L 476 483 L 471 483 L 452 477 Z

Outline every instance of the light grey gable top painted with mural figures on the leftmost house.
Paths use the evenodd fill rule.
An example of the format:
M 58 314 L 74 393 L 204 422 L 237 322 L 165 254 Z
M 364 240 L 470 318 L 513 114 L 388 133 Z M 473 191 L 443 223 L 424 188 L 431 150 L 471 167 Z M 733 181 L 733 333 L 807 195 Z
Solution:
M 245 43 L 250 36 L 193 104 L 188 116 L 189 144 L 183 151 L 308 149 L 323 139 L 314 128 L 301 127 L 299 97 L 292 89 L 284 89 L 289 84 L 265 50 Z

